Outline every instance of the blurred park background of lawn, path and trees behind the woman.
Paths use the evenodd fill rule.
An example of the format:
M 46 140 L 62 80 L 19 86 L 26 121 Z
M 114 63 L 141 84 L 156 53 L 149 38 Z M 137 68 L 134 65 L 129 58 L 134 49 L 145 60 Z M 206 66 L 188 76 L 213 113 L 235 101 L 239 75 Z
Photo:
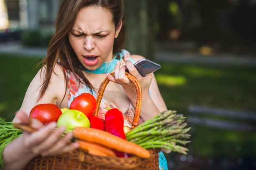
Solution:
M 14 4 L 4 2 L 9 10 Z M 187 117 L 194 116 L 190 105 L 256 114 L 255 0 L 125 0 L 125 17 L 125 48 L 161 64 L 155 75 L 168 109 Z M 16 29 L 15 38 L 0 37 L 0 117 L 8 121 L 44 57 L 24 51 L 45 49 L 52 35 L 54 23 L 42 20 L 34 28 Z M 4 46 L 17 44 L 22 45 L 18 51 Z M 201 117 L 224 120 L 220 115 Z M 241 122 L 255 125 L 255 119 Z M 254 130 L 189 126 L 188 155 L 166 154 L 170 170 L 256 169 Z

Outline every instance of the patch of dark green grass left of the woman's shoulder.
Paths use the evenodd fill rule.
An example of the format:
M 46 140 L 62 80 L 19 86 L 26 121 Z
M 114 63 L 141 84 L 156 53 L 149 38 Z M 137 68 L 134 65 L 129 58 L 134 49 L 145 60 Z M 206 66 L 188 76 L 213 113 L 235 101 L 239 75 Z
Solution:
M 0 54 L 0 117 L 13 120 L 41 60 L 26 55 Z

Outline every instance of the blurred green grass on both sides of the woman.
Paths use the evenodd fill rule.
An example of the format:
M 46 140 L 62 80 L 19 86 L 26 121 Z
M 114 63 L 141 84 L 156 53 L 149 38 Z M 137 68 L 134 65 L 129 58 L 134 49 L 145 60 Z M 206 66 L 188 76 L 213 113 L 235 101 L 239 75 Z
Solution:
M 0 117 L 10 121 L 41 59 L 0 54 L 0 60 Z M 187 116 L 187 107 L 197 103 L 256 112 L 256 67 L 160 64 L 155 75 L 168 109 Z M 200 157 L 256 156 L 255 133 L 197 127 L 193 137 L 194 154 Z

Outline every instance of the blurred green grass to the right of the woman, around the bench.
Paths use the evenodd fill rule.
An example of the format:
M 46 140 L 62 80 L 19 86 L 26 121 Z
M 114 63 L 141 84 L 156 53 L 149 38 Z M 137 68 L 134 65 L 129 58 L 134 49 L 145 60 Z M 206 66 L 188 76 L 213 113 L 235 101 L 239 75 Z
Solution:
M 189 115 L 192 104 L 256 112 L 256 67 L 162 63 L 155 75 L 168 109 L 179 114 Z M 199 157 L 256 157 L 256 133 L 197 127 L 192 139 Z

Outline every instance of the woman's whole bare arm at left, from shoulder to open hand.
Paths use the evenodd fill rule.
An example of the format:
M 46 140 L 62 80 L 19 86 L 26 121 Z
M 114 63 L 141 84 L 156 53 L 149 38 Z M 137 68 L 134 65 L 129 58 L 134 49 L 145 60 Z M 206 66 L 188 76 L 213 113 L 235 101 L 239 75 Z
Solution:
M 40 71 L 31 81 L 20 111 L 13 120 L 13 122 L 22 122 L 30 125 L 38 129 L 38 131 L 31 134 L 24 132 L 23 135 L 5 147 L 3 152 L 3 170 L 22 169 L 35 155 L 55 155 L 78 147 L 77 143 L 69 143 L 69 140 L 72 138 L 71 133 L 68 133 L 61 140 L 59 139 L 65 130 L 64 127 L 52 132 L 56 128 L 56 123 L 44 126 L 41 122 L 28 117 L 30 110 L 40 103 L 53 103 L 59 107 L 67 107 L 66 102 L 61 102 L 65 93 L 65 83 L 64 75 L 59 65 L 56 65 L 54 68 L 56 74 L 53 73 L 51 75 L 51 81 L 44 96 L 41 100 L 37 100 L 41 84 L 44 80 L 44 74 L 41 76 Z

